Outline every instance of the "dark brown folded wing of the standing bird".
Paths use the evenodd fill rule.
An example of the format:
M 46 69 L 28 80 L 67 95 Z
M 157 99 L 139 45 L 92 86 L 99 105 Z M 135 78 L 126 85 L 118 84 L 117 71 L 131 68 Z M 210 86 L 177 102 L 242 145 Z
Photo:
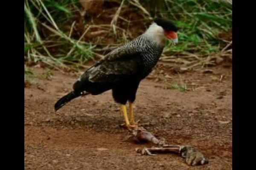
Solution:
M 125 79 L 136 77 L 142 69 L 141 55 L 138 46 L 131 44 L 116 48 L 85 71 L 73 85 L 73 89 L 81 89 L 86 82 L 119 83 Z

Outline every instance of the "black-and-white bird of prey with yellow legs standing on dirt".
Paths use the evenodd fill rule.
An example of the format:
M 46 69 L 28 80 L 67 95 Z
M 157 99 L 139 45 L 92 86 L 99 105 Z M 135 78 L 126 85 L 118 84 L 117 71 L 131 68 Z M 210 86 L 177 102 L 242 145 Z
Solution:
M 88 68 L 73 84 L 73 90 L 54 105 L 55 111 L 71 100 L 85 95 L 99 95 L 112 90 L 112 96 L 120 105 L 125 127 L 138 127 L 134 121 L 133 104 L 141 80 L 151 73 L 165 47 L 166 40 L 178 42 L 178 28 L 165 18 L 156 17 L 143 34 L 113 49 Z M 129 118 L 126 104 L 129 103 Z

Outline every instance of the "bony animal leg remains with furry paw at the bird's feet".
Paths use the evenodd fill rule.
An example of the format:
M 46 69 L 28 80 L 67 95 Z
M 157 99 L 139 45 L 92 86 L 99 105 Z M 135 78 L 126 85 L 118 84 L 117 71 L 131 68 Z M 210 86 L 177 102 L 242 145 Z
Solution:
M 185 159 L 189 165 L 203 165 L 208 163 L 208 159 L 193 146 L 171 145 L 167 144 L 165 139 L 157 139 L 143 127 L 133 130 L 133 139 L 136 142 L 152 142 L 157 144 L 157 147 L 151 148 L 136 148 L 137 153 L 142 155 L 156 155 L 155 153 L 176 153 Z

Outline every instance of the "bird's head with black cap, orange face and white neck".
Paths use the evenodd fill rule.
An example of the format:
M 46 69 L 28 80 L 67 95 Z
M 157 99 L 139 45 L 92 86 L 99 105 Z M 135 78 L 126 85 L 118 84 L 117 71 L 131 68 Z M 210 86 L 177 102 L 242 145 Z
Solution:
M 154 18 L 154 22 L 145 33 L 163 45 L 166 39 L 172 40 L 176 44 L 178 42 L 177 31 L 178 28 L 170 20 Z

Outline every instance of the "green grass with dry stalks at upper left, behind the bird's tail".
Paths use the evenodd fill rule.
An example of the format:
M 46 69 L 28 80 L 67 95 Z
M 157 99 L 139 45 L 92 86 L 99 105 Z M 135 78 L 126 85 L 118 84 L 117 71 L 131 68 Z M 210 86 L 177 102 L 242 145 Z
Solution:
M 81 45 L 64 32 L 79 12 L 78 0 L 25 0 L 25 62 L 44 62 L 54 68 L 67 68 L 66 63 L 84 64 L 93 57 L 93 45 Z M 44 31 L 49 36 L 44 36 Z M 51 49 L 55 48 L 55 52 Z

